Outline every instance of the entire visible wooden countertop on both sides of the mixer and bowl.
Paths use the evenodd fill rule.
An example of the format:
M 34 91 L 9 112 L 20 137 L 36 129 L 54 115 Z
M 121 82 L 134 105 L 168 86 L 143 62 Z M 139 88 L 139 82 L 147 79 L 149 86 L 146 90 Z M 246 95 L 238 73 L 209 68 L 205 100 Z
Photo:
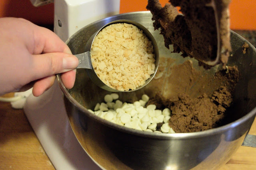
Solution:
M 249 134 L 256 135 L 256 120 Z M 54 169 L 23 109 L 0 102 L 0 169 Z M 241 146 L 221 170 L 256 169 L 256 148 Z

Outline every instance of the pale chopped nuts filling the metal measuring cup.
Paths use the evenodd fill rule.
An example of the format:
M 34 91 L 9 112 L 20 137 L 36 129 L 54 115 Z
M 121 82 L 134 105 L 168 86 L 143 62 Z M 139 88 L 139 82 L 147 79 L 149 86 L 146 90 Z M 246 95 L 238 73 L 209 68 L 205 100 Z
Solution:
M 98 77 L 120 91 L 142 86 L 154 74 L 152 42 L 142 30 L 128 23 L 102 29 L 92 43 L 91 60 Z

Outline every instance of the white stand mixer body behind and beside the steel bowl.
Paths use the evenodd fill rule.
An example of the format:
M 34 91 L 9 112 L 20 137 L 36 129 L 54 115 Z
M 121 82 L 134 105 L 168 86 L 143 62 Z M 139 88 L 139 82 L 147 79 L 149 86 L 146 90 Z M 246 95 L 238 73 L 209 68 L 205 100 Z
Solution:
M 82 27 L 119 14 L 119 0 L 30 0 L 34 6 L 54 2 L 54 32 L 66 41 Z M 24 112 L 56 169 L 97 170 L 78 143 L 66 115 L 58 83 L 40 97 L 28 96 Z

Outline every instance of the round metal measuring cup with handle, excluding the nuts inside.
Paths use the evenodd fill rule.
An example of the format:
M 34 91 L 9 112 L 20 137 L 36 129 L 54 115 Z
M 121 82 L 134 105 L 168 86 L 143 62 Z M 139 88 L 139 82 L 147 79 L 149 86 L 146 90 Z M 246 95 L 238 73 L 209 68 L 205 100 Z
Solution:
M 90 56 L 90 51 L 92 48 L 92 43 L 94 41 L 94 38 L 96 37 L 96 35 L 105 27 L 107 27 L 108 25 L 114 24 L 114 23 L 128 23 L 128 24 L 132 24 L 135 25 L 136 27 L 138 27 L 140 30 L 143 31 L 143 33 L 146 35 L 146 37 L 148 37 L 148 39 L 152 42 L 153 45 L 153 49 L 154 49 L 154 55 L 155 55 L 155 70 L 154 70 L 154 74 L 152 74 L 150 76 L 150 78 L 148 78 L 148 80 L 146 80 L 146 82 L 142 85 L 137 87 L 134 90 L 128 90 L 128 91 L 120 91 L 120 90 L 116 90 L 114 88 L 111 88 L 110 86 L 106 85 L 104 82 L 102 82 L 102 80 L 100 80 L 100 78 L 98 77 L 98 75 L 96 74 L 96 72 L 94 71 L 93 67 L 92 67 L 92 61 L 91 61 L 91 56 Z M 150 33 L 150 31 L 148 31 L 148 29 L 146 29 L 146 27 L 144 27 L 143 25 L 131 21 L 131 20 L 116 20 L 116 21 L 112 21 L 106 25 L 104 25 L 101 29 L 99 29 L 98 31 L 96 31 L 96 33 L 94 33 L 90 39 L 88 40 L 88 42 L 86 43 L 86 52 L 85 53 L 81 53 L 81 54 L 77 54 L 75 55 L 78 60 L 79 60 L 79 64 L 77 66 L 77 68 L 86 68 L 86 72 L 88 74 L 88 76 L 90 77 L 90 79 L 96 84 L 98 85 L 100 88 L 103 88 L 104 90 L 108 90 L 110 92 L 132 92 L 135 90 L 138 90 L 140 88 L 143 88 L 144 86 L 146 86 L 151 80 L 152 78 L 155 76 L 156 74 L 156 70 L 158 68 L 158 63 L 159 63 L 159 52 L 158 52 L 158 46 L 156 44 L 156 40 L 154 39 L 153 35 Z

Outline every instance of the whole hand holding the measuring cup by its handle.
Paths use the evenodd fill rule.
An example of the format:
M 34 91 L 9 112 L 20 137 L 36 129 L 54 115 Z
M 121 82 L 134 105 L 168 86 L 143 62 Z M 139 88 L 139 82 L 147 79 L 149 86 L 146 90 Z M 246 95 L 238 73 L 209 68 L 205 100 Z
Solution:
M 70 89 L 77 65 L 68 46 L 49 29 L 20 18 L 0 18 L 0 95 L 33 86 L 34 96 L 40 96 L 58 73 Z

